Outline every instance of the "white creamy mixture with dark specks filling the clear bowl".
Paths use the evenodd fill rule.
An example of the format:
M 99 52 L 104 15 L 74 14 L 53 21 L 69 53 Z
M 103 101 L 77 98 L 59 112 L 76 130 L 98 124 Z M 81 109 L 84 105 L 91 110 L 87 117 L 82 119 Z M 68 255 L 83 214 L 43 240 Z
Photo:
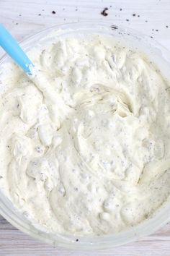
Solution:
M 58 38 L 30 52 L 31 82 L 1 70 L 0 187 L 35 226 L 102 235 L 170 194 L 169 85 L 110 38 Z

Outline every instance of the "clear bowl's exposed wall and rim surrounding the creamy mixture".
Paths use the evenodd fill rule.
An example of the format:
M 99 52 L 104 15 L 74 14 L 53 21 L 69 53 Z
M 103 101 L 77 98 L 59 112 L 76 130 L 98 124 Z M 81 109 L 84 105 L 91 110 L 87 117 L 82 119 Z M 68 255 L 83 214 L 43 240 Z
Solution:
M 55 32 L 55 33 L 54 33 Z M 110 23 L 99 22 L 76 22 L 65 25 L 58 25 L 42 30 L 35 35 L 23 40 L 20 45 L 24 51 L 29 51 L 32 47 L 43 46 L 43 44 L 50 41 L 55 41 L 56 35 L 66 36 L 69 34 L 102 34 L 111 35 L 117 40 L 121 40 L 122 43 L 130 46 L 131 48 L 143 51 L 148 55 L 149 59 L 153 61 L 158 69 L 167 80 L 170 80 L 170 53 L 163 46 L 158 44 L 153 38 L 149 38 L 135 30 L 130 30 L 126 27 L 120 27 L 112 25 Z M 9 60 L 9 57 L 0 56 L 0 69 L 1 65 Z M 0 92 L 1 93 L 1 92 Z M 12 223 L 17 229 L 23 231 L 26 234 L 40 239 L 53 246 L 65 247 L 68 249 L 105 249 L 118 245 L 126 244 L 128 242 L 134 242 L 141 239 L 143 236 L 152 234 L 161 226 L 164 226 L 170 219 L 170 202 L 167 200 L 164 205 L 154 213 L 151 218 L 134 226 L 130 229 L 126 229 L 117 234 L 109 234 L 104 236 L 69 236 L 63 234 L 51 234 L 45 231 L 41 231 L 32 225 L 32 223 L 19 213 L 12 205 L 12 202 L 3 194 L 0 189 L 0 214 L 4 216 L 7 221 Z

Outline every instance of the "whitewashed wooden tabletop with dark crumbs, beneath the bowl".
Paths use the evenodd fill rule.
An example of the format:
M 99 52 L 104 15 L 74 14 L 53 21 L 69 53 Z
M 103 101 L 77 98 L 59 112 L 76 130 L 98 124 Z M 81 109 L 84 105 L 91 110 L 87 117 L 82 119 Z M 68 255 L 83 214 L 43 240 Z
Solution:
M 105 7 L 107 16 L 101 14 Z M 17 40 L 45 27 L 86 20 L 135 28 L 170 49 L 169 0 L 0 0 L 0 22 Z M 35 241 L 0 216 L 0 255 L 170 256 L 170 223 L 140 242 L 99 252 L 69 252 Z

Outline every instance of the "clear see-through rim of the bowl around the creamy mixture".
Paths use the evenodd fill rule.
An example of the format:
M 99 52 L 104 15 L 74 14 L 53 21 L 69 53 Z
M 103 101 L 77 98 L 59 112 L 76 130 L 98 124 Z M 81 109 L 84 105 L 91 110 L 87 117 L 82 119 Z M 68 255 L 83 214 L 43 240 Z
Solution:
M 114 27 L 117 28 L 115 29 Z M 132 36 L 134 40 L 140 40 L 142 43 L 146 44 L 146 46 L 150 45 L 151 48 L 156 49 L 156 51 L 158 50 L 159 54 L 161 53 L 161 58 L 163 58 L 163 56 L 167 57 L 165 61 L 170 67 L 170 52 L 164 48 L 164 46 L 161 46 L 161 44 L 157 43 L 156 40 L 153 40 L 136 30 L 122 27 L 120 25 L 113 25 L 112 22 L 71 22 L 63 25 L 55 25 L 53 27 L 40 30 L 33 35 L 24 38 L 24 40 L 20 41 L 19 44 L 25 49 L 26 46 L 30 46 L 32 41 L 35 41 L 36 38 L 44 38 L 45 35 L 48 35 L 48 33 L 53 30 L 76 30 L 78 32 L 88 31 L 88 33 L 98 33 L 99 31 L 101 33 L 118 33 L 118 31 L 121 31 L 121 33 Z M 0 56 L 0 64 L 6 59 L 8 59 L 6 54 Z M 79 242 L 77 242 L 77 236 L 68 236 L 62 234 L 50 236 L 50 234 L 36 229 L 29 222 L 27 222 L 26 219 L 23 221 L 20 214 L 16 210 L 12 209 L 12 205 L 10 205 L 9 200 L 0 192 L 0 214 L 6 218 L 9 223 L 12 223 L 12 225 L 17 229 L 23 231 L 25 234 L 29 234 L 35 239 L 39 239 L 42 242 L 67 249 L 109 249 L 122 244 L 127 244 L 129 242 L 135 242 L 136 240 L 141 239 L 143 236 L 153 234 L 153 232 L 161 228 L 161 226 L 164 226 L 170 219 L 169 211 L 170 202 L 166 202 L 164 206 L 156 211 L 156 214 L 152 218 L 143 221 L 142 223 L 138 224 L 138 226 L 133 226 L 132 228 L 121 231 L 118 234 L 110 234 L 107 236 L 79 236 Z

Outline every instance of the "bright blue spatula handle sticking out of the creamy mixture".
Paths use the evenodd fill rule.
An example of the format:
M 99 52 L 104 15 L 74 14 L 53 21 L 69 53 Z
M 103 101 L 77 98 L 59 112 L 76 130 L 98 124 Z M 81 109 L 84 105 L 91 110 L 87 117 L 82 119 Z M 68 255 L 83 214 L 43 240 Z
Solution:
M 6 54 L 8 54 L 24 72 L 31 75 L 31 67 L 34 67 L 32 61 L 24 54 L 22 48 L 18 45 L 17 41 L 14 40 L 12 35 L 6 30 L 6 28 L 0 24 L 0 46 L 4 48 Z

